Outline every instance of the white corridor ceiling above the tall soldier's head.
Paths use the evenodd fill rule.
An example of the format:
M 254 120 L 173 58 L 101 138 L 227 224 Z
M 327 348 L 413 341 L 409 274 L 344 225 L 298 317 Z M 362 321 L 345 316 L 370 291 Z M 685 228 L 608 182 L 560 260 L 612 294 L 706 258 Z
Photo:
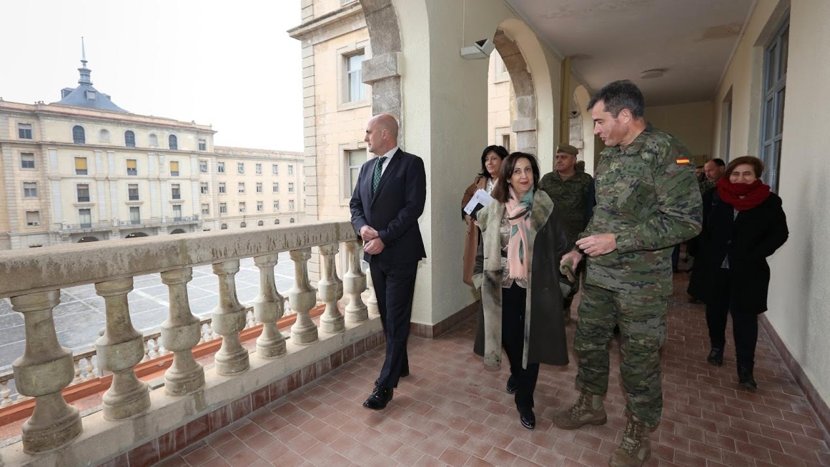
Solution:
M 637 83 L 646 105 L 711 100 L 753 0 L 506 0 L 589 92 Z M 660 78 L 640 73 L 666 69 Z

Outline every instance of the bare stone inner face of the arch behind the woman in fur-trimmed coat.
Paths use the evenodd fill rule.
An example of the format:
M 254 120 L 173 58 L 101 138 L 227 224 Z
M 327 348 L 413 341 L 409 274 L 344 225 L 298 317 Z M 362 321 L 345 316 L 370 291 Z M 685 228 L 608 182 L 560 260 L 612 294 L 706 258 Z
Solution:
M 522 55 L 519 45 L 510 39 L 501 28 L 493 36 L 496 51 L 510 75 L 515 94 L 515 120 L 510 125 L 516 134 L 516 150 L 523 153 L 537 153 L 536 144 L 536 91 L 533 76 Z

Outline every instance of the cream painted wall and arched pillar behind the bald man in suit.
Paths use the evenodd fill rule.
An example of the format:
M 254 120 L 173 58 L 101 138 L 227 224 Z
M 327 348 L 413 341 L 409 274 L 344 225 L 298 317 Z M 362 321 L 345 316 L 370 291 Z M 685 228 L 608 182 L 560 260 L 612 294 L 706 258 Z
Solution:
M 403 42 L 403 147 L 421 156 L 427 171 L 427 207 L 419 221 L 427 260 L 418 269 L 413 322 L 432 324 L 475 300 L 461 282 L 464 224 L 458 202 L 480 164 L 466 154 L 484 148 L 488 140 L 488 61 L 464 60 L 459 49 L 492 37 L 497 27 L 519 42 L 534 75 L 537 145 L 548 165 L 558 131 L 554 109 L 559 108 L 559 61 L 500 0 L 475 5 L 461 0 L 393 3 Z

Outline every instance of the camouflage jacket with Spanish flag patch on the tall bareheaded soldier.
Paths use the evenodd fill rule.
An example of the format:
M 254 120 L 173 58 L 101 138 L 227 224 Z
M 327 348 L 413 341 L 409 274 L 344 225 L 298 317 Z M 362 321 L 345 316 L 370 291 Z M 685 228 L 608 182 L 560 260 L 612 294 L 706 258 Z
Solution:
M 617 250 L 588 258 L 585 283 L 629 294 L 670 295 L 671 247 L 701 232 L 701 192 L 679 139 L 651 124 L 627 148 L 605 148 L 597 207 L 580 237 L 616 236 Z

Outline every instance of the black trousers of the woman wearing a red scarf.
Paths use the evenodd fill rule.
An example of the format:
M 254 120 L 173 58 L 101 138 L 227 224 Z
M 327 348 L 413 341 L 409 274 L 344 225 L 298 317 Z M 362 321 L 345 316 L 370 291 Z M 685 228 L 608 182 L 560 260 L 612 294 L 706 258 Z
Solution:
M 732 333 L 735 336 L 735 356 L 739 367 L 752 368 L 755 360 L 755 344 L 758 343 L 758 314 L 742 311 L 738 294 L 733 290 L 730 271 L 719 268 L 712 280 L 713 289 L 706 304 L 706 324 L 712 347 L 724 348 L 726 343 L 726 315 L 732 314 Z

